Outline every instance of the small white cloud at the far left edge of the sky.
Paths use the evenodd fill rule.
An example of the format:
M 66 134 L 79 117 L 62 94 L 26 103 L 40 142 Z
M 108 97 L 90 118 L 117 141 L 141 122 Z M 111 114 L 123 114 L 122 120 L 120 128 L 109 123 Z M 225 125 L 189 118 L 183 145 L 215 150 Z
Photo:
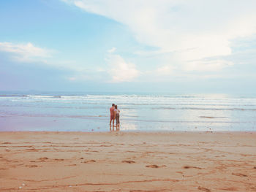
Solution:
M 11 54 L 15 61 L 34 61 L 38 58 L 49 58 L 53 50 L 34 46 L 31 42 L 26 44 L 14 44 L 12 42 L 0 42 L 0 51 Z

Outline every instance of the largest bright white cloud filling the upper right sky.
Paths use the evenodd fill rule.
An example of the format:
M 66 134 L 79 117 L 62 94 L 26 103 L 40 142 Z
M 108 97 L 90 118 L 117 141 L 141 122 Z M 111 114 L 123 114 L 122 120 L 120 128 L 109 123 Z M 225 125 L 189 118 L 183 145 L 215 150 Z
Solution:
M 208 71 L 229 66 L 222 57 L 232 55 L 230 42 L 256 34 L 254 0 L 65 1 L 124 23 L 138 42 L 158 47 L 159 50 L 150 54 L 171 54 L 173 60 L 166 63 L 176 61 L 181 69 L 196 65 L 192 68 Z M 145 50 L 137 53 L 145 54 Z

